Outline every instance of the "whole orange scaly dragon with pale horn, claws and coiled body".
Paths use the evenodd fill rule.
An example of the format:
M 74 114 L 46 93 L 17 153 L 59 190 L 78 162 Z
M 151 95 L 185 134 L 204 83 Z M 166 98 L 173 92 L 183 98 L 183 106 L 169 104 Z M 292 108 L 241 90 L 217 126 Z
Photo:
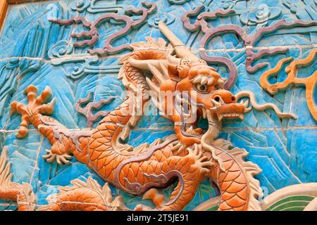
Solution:
M 223 89 L 225 79 L 214 68 L 194 56 L 164 23 L 159 24 L 159 29 L 170 44 L 152 38 L 131 44 L 133 51 L 121 58 L 123 66 L 118 75 L 130 94 L 95 129 L 69 131 L 49 117 L 55 103 L 54 99 L 44 103 L 51 96 L 49 87 L 37 96 L 37 88 L 28 86 L 28 104 L 11 103 L 11 113 L 22 115 L 18 138 L 25 137 L 32 124 L 50 141 L 51 149 L 43 156 L 47 162 L 67 164 L 73 155 L 107 182 L 101 188 L 92 179 L 87 183 L 76 179 L 73 186 L 59 188 L 60 193 L 50 196 L 49 205 L 37 210 L 127 210 L 122 198 L 112 200 L 108 183 L 127 193 L 143 195 L 156 205 L 154 209 L 137 205 L 134 210 L 182 210 L 205 177 L 218 185 L 218 210 L 261 210 L 258 198 L 262 191 L 254 179 L 261 169 L 244 161 L 245 150 L 218 139 L 223 119 L 243 119 L 244 113 L 251 110 L 248 101 L 238 103 L 238 98 L 249 96 L 251 105 L 259 108 L 254 100 L 252 103 L 254 96 L 248 92 L 232 95 Z M 172 94 L 171 102 L 166 93 Z M 150 102 L 174 122 L 175 134 L 164 141 L 132 148 L 123 141 Z M 261 110 L 267 108 L 273 108 L 272 104 L 261 105 Z M 280 117 L 294 117 L 273 109 Z M 199 117 L 209 122 L 205 132 L 194 128 Z M 30 186 L 11 182 L 9 169 L 2 156 L 0 198 L 17 201 L 18 210 L 33 210 L 31 203 L 27 205 L 35 201 Z M 175 179 L 178 184 L 166 200 L 159 188 L 166 188 Z

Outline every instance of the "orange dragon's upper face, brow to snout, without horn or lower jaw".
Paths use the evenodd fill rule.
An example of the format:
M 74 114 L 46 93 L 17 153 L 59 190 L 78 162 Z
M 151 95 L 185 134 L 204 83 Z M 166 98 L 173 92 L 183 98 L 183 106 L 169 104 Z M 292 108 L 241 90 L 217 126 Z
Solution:
M 177 77 L 175 91 L 178 93 L 188 93 L 192 107 L 196 109 L 198 116 L 204 118 L 211 115 L 217 120 L 225 118 L 243 119 L 243 114 L 247 112 L 247 105 L 237 103 L 235 96 L 223 88 L 223 79 L 214 68 L 205 63 L 189 63 L 189 65 L 169 66 L 171 77 Z M 170 86 L 170 81 L 161 84 L 161 91 L 166 91 Z M 171 87 L 171 86 L 170 86 Z M 186 95 L 182 95 L 187 97 Z

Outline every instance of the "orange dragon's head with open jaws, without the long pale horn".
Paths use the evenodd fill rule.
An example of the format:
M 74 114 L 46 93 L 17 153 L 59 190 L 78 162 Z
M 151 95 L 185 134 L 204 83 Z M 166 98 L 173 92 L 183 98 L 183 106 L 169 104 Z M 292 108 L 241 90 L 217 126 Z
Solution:
M 154 78 L 147 82 L 153 91 L 152 99 L 157 99 L 156 107 L 175 122 L 179 139 L 187 145 L 199 142 L 203 135 L 203 130 L 197 127 L 200 117 L 220 126 L 221 120 L 242 120 L 249 111 L 249 103 L 237 103 L 235 96 L 223 88 L 225 79 L 205 63 L 168 64 L 167 71 L 169 79 L 162 79 L 152 70 Z

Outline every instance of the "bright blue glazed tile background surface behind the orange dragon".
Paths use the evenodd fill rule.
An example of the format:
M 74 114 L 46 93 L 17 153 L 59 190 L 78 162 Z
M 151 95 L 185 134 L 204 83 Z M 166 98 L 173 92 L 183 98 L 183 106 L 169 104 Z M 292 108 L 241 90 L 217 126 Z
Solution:
M 149 15 L 147 23 L 124 35 L 113 43 L 113 46 L 144 41 L 144 37 L 163 37 L 157 23 L 163 20 L 170 30 L 194 53 L 199 51 L 201 31 L 189 32 L 182 25 L 180 17 L 186 11 L 204 4 L 206 11 L 219 8 L 235 9 L 236 13 L 225 18 L 209 21 L 210 27 L 224 24 L 235 24 L 248 34 L 254 34 L 261 27 L 268 27 L 277 20 L 317 20 L 317 1 L 313 0 L 159 0 L 154 1 L 158 9 Z M 90 21 L 111 11 L 116 6 L 118 14 L 135 6 L 142 7 L 139 1 L 110 0 L 61 0 L 44 1 L 42 3 L 11 5 L 0 36 L 0 151 L 8 146 L 8 160 L 11 162 L 13 181 L 31 184 L 37 197 L 37 204 L 46 205 L 45 198 L 56 193 L 58 186 L 67 186 L 76 178 L 85 180 L 92 176 L 100 184 L 104 181 L 87 168 L 86 165 L 72 160 L 72 165 L 57 165 L 56 162 L 44 161 L 50 143 L 39 132 L 30 127 L 25 139 L 15 137 L 19 127 L 20 115 L 10 117 L 9 106 L 12 101 L 26 103 L 24 89 L 33 84 L 39 92 L 50 86 L 56 97 L 54 114 L 58 121 L 68 129 L 87 127 L 87 120 L 77 113 L 75 103 L 93 92 L 93 101 L 115 97 L 114 101 L 102 110 L 113 110 L 122 103 L 125 87 L 117 79 L 118 54 L 98 59 L 87 53 L 87 49 L 104 46 L 109 35 L 118 32 L 123 26 L 113 21 L 103 23 L 99 27 L 99 41 L 93 48 L 74 47 L 75 39 L 70 34 L 85 30 L 82 25 L 60 26 L 49 22 L 49 18 L 68 19 L 75 15 L 85 16 Z M 263 9 L 264 8 L 264 9 Z M 262 11 L 262 12 L 261 12 Z M 268 13 L 261 19 L 261 13 Z M 273 46 L 288 46 L 286 53 L 265 56 L 254 63 L 266 62 L 268 66 L 251 74 L 245 68 L 246 49 L 235 34 L 221 34 L 206 45 L 210 56 L 224 56 L 237 66 L 238 78 L 231 91 L 253 91 L 259 103 L 275 103 L 283 112 L 297 115 L 297 120 L 280 120 L 273 110 L 259 112 L 251 110 L 243 121 L 225 121 L 221 136 L 230 139 L 234 146 L 245 148 L 249 152 L 247 160 L 255 162 L 263 172 L 256 176 L 261 182 L 264 193 L 272 193 L 292 184 L 317 182 L 317 127 L 306 104 L 305 87 L 290 86 L 271 96 L 264 91 L 259 79 L 264 71 L 275 67 L 278 60 L 285 57 L 305 58 L 316 48 L 317 29 L 311 27 L 294 27 L 279 30 L 265 35 L 257 42 L 261 49 Z M 223 77 L 228 77 L 228 70 L 223 66 L 213 65 Z M 299 69 L 299 77 L 308 77 L 317 69 L 317 63 Z M 281 82 L 285 72 L 280 72 L 277 79 Z M 315 90 L 314 101 L 317 101 Z M 206 121 L 201 121 L 206 128 Z M 132 146 L 173 134 L 173 124 L 159 115 L 144 116 L 130 134 L 128 143 Z M 129 208 L 142 201 L 141 197 L 128 195 L 112 188 L 113 196 L 124 195 Z M 170 188 L 166 189 L 166 193 Z M 199 203 L 216 195 L 209 181 L 201 183 L 195 198 L 185 210 L 192 210 Z M 144 201 L 142 201 L 144 203 Z M 151 203 L 145 203 L 151 204 Z M 0 201 L 0 210 L 13 210 L 15 203 Z

